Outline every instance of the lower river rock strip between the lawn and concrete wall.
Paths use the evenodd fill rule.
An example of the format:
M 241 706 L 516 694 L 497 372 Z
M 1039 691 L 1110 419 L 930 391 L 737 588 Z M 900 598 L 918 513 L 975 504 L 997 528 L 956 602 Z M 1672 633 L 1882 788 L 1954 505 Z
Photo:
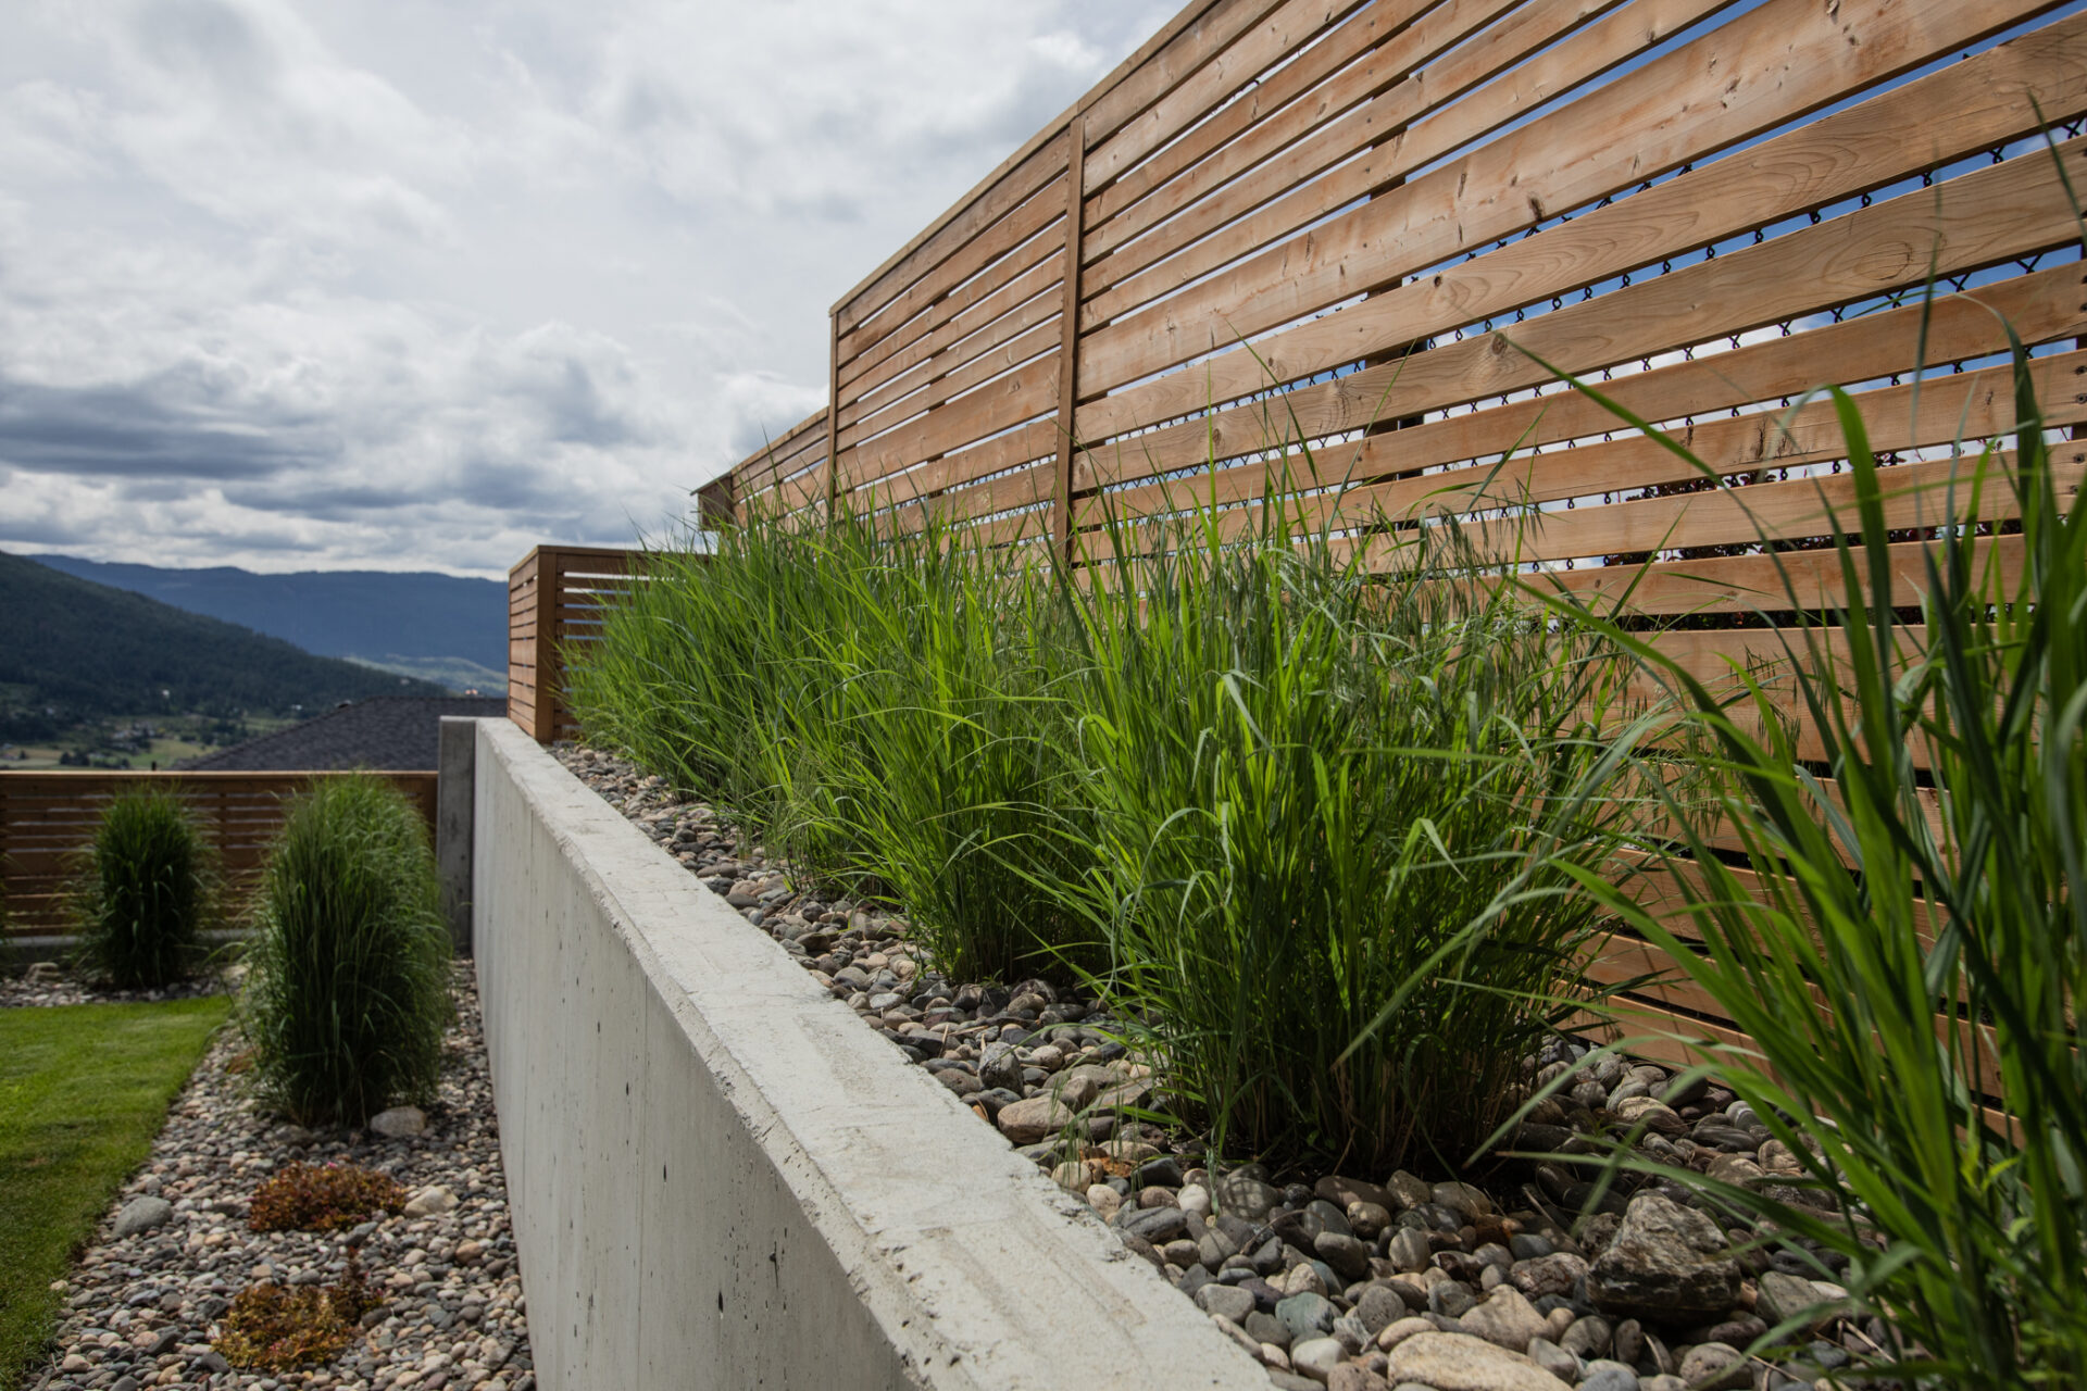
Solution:
M 244 1041 L 223 1030 L 167 1114 L 152 1155 L 67 1280 L 56 1353 L 35 1391 L 232 1387 L 278 1391 L 534 1391 L 528 1318 L 507 1220 L 493 1078 L 478 993 L 455 968 L 457 1018 L 426 1107 L 371 1130 L 323 1130 L 263 1116 L 244 1084 Z M 390 1134 L 376 1132 L 378 1128 Z M 351 1162 L 397 1178 L 399 1216 L 344 1233 L 255 1233 L 255 1187 L 292 1164 Z M 211 1347 L 250 1285 L 332 1285 L 349 1247 L 384 1303 L 334 1362 L 294 1372 L 234 1370 Z

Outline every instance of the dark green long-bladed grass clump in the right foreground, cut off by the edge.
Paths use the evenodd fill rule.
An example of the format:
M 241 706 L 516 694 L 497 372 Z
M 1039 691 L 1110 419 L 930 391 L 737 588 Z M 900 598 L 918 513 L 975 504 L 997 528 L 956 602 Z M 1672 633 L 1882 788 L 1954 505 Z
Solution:
M 2087 1385 L 2087 448 L 2045 425 L 2014 342 L 2012 448 L 1960 448 L 1930 505 L 2018 523 L 1908 538 L 1889 526 L 1893 469 L 1853 398 L 1830 396 L 1853 538 L 1828 523 L 1839 607 L 1816 611 L 1784 571 L 1791 678 L 1734 697 L 1613 628 L 1709 749 L 1745 870 L 1676 815 L 1668 911 L 1574 874 L 1751 1039 L 1695 1043 L 1803 1164 L 1809 1201 L 1670 1176 L 1882 1316 L 1872 1381 Z M 1914 603 L 1901 565 L 1918 617 L 1895 607 Z M 1636 759 L 1653 788 L 1668 770 L 1655 749 Z M 1613 1162 L 1659 1172 L 1628 1149 Z

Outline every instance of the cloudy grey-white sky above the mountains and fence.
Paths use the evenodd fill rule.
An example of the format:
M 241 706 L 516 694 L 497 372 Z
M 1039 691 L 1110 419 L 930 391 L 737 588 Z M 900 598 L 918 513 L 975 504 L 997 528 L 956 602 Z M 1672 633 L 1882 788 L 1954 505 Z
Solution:
M 6 0 L 0 548 L 503 574 L 824 400 L 826 309 L 1175 0 Z

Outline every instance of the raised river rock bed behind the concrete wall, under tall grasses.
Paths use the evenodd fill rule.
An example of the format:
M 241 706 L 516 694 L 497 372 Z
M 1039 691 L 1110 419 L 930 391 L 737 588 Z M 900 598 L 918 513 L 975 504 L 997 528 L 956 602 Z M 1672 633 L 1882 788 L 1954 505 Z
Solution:
M 1770 1391 L 1814 1385 L 1882 1331 L 1839 1316 L 1839 1258 L 1732 1255 L 1753 1233 L 1665 1180 L 1597 1195 L 1567 1164 L 1503 1166 L 1492 1191 L 1411 1172 L 1213 1176 L 1194 1137 L 1121 1116 L 1162 1103 L 1100 1001 L 1041 980 L 952 982 L 872 903 L 799 890 L 712 807 L 614 755 L 555 755 L 774 936 L 906 1057 L 1256 1356 L 1277 1387 L 1334 1391 Z M 1553 1039 L 1536 1082 L 1572 1076 L 1513 1149 L 1594 1153 L 1592 1132 L 1728 1182 L 1789 1185 L 1797 1160 L 1730 1093 Z M 1797 1189 L 1786 1189 L 1797 1197 Z M 1812 1310 L 1774 1358 L 1770 1326 Z M 1851 1351 L 1853 1349 L 1853 1351 Z

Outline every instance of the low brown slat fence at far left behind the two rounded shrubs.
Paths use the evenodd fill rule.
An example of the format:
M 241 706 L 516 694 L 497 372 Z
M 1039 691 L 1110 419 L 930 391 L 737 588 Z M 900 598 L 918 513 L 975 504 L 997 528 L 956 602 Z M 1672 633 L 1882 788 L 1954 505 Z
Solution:
M 0 772 L 0 882 L 6 932 L 67 932 L 67 893 L 102 809 L 131 786 L 173 788 L 217 847 L 234 895 L 261 870 L 284 805 L 321 778 L 384 778 L 405 792 L 434 834 L 434 772 Z

